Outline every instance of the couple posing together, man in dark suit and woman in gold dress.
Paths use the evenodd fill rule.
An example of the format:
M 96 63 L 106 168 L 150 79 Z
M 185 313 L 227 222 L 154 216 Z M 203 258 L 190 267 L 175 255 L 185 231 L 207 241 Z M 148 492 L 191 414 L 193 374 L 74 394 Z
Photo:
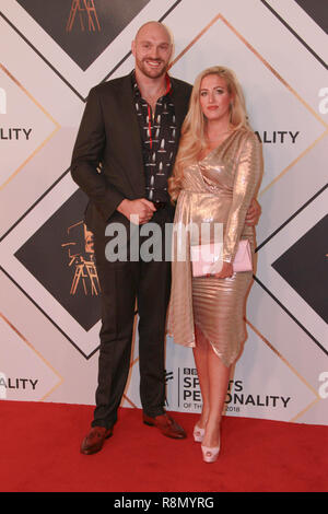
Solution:
M 251 271 L 234 272 L 233 261 L 241 238 L 254 249 L 261 149 L 233 72 L 206 70 L 192 89 L 168 77 L 172 50 L 163 24 L 149 22 L 138 31 L 134 70 L 91 90 L 73 150 L 71 174 L 90 199 L 85 223 L 94 233 L 102 289 L 96 407 L 81 452 L 98 452 L 113 434 L 129 373 L 136 300 L 143 422 L 168 437 L 186 437 L 164 410 L 171 299 L 169 329 L 175 342 L 194 349 L 203 400 L 194 439 L 204 462 L 214 462 L 231 365 L 245 337 Z M 163 240 L 173 220 L 223 223 L 221 271 L 192 277 L 189 257 L 108 261 L 106 226 L 121 223 L 129 232 L 136 219 L 134 230 L 156 223 Z M 144 236 L 138 235 L 142 245 Z M 128 241 L 128 255 L 130 246 Z

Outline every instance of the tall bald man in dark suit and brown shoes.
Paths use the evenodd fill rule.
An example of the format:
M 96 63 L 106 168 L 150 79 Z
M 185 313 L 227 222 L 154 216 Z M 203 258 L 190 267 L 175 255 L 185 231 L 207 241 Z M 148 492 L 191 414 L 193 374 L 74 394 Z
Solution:
M 105 230 L 112 223 L 121 223 L 128 234 L 131 221 L 134 231 L 150 221 L 156 223 L 165 248 L 164 227 L 174 213 L 167 178 L 191 93 L 189 84 L 167 75 L 172 46 L 161 23 L 150 22 L 139 30 L 132 43 L 134 71 L 91 90 L 73 150 L 71 174 L 90 198 L 85 222 L 94 233 L 102 290 L 96 408 L 81 446 L 84 454 L 102 448 L 117 420 L 129 373 L 136 299 L 143 422 L 169 437 L 186 436 L 164 411 L 171 262 L 164 258 L 108 261 L 105 256 Z M 139 245 L 142 241 L 141 236 Z M 130 245 L 128 240 L 128 253 Z

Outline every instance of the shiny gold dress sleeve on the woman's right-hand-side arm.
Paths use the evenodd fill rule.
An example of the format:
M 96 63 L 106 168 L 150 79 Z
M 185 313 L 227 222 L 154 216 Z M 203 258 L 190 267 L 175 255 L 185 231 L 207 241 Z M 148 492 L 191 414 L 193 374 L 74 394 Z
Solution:
M 246 213 L 262 174 L 262 149 L 256 135 L 249 131 L 242 144 L 234 177 L 233 200 L 223 240 L 225 262 L 234 260 Z

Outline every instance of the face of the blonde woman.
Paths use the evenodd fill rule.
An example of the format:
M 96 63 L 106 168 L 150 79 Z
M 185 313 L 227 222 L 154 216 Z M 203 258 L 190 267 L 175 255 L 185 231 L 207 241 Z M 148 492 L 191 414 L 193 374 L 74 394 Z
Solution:
M 230 119 L 230 104 L 233 98 L 225 79 L 216 74 L 204 77 L 199 95 L 202 114 L 208 120 Z

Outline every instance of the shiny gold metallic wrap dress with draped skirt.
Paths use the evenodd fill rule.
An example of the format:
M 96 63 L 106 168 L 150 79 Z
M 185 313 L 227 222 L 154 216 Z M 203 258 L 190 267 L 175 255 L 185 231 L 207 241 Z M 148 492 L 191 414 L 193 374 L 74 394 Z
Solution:
M 178 196 L 175 227 L 192 223 L 223 223 L 223 260 L 233 261 L 241 238 L 248 238 L 251 250 L 255 231 L 245 225 L 245 217 L 256 195 L 262 173 L 262 153 L 253 131 L 232 132 L 202 161 L 184 170 Z M 224 365 L 231 365 L 246 338 L 245 300 L 251 271 L 235 272 L 231 278 L 192 277 L 190 238 L 186 258 L 177 258 L 177 235 L 173 237 L 172 293 L 168 332 L 178 344 L 195 347 L 204 337 Z M 212 241 L 212 235 L 207 243 Z M 195 332 L 197 331 L 197 338 Z

